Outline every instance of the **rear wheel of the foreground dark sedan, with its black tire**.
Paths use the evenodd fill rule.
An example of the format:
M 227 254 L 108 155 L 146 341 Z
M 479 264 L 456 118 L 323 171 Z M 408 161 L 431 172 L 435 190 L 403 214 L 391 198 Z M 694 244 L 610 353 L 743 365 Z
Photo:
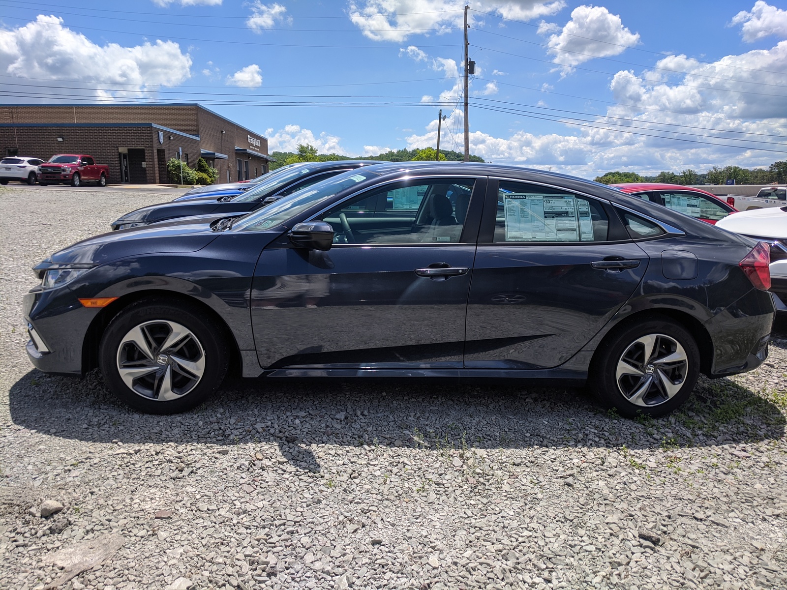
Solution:
M 652 353 L 645 359 L 651 337 Z M 680 356 L 685 356 L 685 363 L 677 360 Z M 675 361 L 660 362 L 667 358 Z M 619 361 L 623 361 L 620 369 Z M 604 339 L 593 355 L 589 389 L 604 406 L 615 407 L 620 415 L 656 418 L 685 402 L 699 374 L 700 349 L 689 331 L 672 319 L 652 317 L 621 326 Z M 644 396 L 637 395 L 641 392 Z M 630 401 L 637 399 L 641 403 Z

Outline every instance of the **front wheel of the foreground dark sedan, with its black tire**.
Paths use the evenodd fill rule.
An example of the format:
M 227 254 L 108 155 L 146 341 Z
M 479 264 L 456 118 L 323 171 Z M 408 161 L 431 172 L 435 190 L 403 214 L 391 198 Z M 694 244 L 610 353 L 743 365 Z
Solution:
M 167 333 L 167 329 L 174 330 Z M 142 338 L 148 344 L 150 355 L 135 346 L 132 330 L 145 330 Z M 168 335 L 185 328 L 189 334 L 175 348 L 162 348 Z M 138 301 L 124 308 L 107 326 L 99 349 L 98 364 L 109 389 L 124 404 L 147 414 L 177 414 L 196 407 L 216 391 L 224 380 L 229 362 L 227 342 L 222 326 L 200 308 L 165 299 Z M 163 335 L 162 335 L 163 334 Z M 166 363 L 161 357 L 167 357 Z M 202 363 L 201 375 L 194 381 L 198 371 L 183 373 L 183 365 L 175 359 L 187 359 L 189 363 Z M 121 376 L 120 363 L 124 364 L 126 379 Z M 183 360 L 181 360 L 183 362 Z M 142 373 L 130 377 L 137 368 Z M 155 371 L 155 372 L 153 372 Z M 180 372 L 179 372 L 180 371 Z M 192 384 L 192 382 L 194 382 Z M 166 385 L 164 385 L 166 384 Z M 181 390 L 181 393 L 177 392 Z M 156 399 L 159 395 L 169 400 Z

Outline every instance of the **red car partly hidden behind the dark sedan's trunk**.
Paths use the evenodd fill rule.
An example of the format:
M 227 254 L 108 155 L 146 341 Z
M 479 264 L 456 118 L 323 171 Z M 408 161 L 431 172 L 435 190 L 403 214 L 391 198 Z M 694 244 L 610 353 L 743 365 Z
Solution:
M 730 213 L 737 213 L 736 208 L 715 194 L 692 186 L 660 183 L 622 183 L 610 186 L 708 223 L 715 224 Z

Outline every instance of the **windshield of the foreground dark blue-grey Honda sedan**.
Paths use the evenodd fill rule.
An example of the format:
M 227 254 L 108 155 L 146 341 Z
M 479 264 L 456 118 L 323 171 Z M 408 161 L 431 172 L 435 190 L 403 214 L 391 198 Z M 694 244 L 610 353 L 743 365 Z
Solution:
M 259 211 L 249 213 L 249 215 L 239 219 L 233 229 L 261 231 L 267 230 L 269 227 L 282 225 L 287 219 L 300 215 L 307 209 L 319 204 L 320 201 L 326 201 L 333 197 L 334 194 L 338 194 L 350 186 L 355 186 L 357 183 L 370 179 L 372 176 L 379 176 L 379 174 L 368 168 L 363 168 L 360 171 L 350 170 L 330 179 L 325 179 L 320 183 L 312 184 L 312 186 L 282 197 L 279 201 L 275 201 L 272 205 L 263 207 Z

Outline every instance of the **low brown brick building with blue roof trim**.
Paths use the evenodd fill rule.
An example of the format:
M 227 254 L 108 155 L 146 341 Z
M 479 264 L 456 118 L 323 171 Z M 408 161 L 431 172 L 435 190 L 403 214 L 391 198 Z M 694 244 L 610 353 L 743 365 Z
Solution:
M 0 105 L 0 156 L 48 160 L 86 153 L 109 164 L 109 183 L 169 183 L 166 164 L 183 154 L 219 170 L 218 182 L 268 171 L 268 139 L 196 104 Z

